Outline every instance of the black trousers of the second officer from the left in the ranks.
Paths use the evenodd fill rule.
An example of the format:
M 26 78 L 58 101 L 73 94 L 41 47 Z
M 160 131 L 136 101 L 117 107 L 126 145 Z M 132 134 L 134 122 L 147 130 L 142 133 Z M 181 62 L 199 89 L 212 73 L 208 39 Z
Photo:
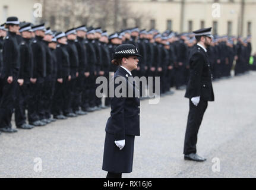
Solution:
M 29 84 L 24 83 L 16 90 L 17 99 L 15 101 L 15 124 L 21 126 L 26 124 L 26 107 L 29 99 Z

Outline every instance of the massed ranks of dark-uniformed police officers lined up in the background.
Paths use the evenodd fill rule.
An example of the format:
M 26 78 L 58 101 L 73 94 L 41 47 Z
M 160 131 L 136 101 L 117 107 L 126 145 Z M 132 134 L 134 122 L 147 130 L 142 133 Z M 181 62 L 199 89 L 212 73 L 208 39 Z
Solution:
M 249 70 L 250 40 L 214 36 L 207 48 L 213 80 L 230 77 L 233 63 L 235 75 Z M 64 33 L 7 18 L 0 27 L 0 131 L 17 132 L 12 112 L 18 129 L 32 129 L 109 107 L 108 94 L 103 101 L 96 96 L 96 78 L 113 77 L 118 66 L 111 64 L 112 55 L 122 44 L 143 55 L 134 77 L 160 77 L 160 96 L 188 84 L 189 52 L 196 46 L 191 33 L 134 27 L 108 36 L 100 27 L 84 25 Z M 149 85 L 140 84 L 142 99 L 150 97 Z M 156 93 L 154 81 L 152 88 Z

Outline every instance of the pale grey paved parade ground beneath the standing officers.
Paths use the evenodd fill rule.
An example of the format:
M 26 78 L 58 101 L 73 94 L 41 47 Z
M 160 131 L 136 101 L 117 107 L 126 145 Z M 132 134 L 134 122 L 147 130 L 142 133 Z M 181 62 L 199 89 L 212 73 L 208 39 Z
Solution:
M 185 91 L 175 91 L 158 105 L 141 102 L 134 170 L 124 178 L 256 177 L 256 72 L 214 82 L 213 87 L 216 102 L 208 104 L 197 146 L 207 162 L 183 159 L 188 100 Z M 105 178 L 101 169 L 109 115 L 110 109 L 100 110 L 0 135 L 0 178 Z M 42 159 L 42 172 L 34 172 L 37 157 Z

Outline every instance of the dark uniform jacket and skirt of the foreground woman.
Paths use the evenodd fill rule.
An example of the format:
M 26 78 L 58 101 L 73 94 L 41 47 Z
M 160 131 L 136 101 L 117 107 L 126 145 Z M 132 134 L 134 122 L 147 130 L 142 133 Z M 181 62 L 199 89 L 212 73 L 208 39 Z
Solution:
M 119 67 L 114 78 L 124 77 L 127 84 L 127 97 L 111 98 L 111 116 L 106 124 L 106 139 L 103 156 L 103 170 L 113 173 L 131 173 L 134 137 L 140 136 L 140 99 L 137 96 L 128 97 L 128 88 L 138 91 L 137 85 L 128 81 L 130 76 L 124 68 Z M 115 89 L 119 84 L 115 84 Z M 138 93 L 134 93 L 138 94 Z M 122 150 L 115 141 L 125 140 Z

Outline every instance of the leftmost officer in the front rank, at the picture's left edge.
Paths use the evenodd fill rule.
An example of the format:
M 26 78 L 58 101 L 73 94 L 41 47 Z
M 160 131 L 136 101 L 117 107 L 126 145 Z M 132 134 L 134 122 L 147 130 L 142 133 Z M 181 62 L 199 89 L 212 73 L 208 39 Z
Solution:
M 11 127 L 11 116 L 16 98 L 15 90 L 18 83 L 23 84 L 23 80 L 18 80 L 20 71 L 20 46 L 17 42 L 17 32 L 20 29 L 20 21 L 17 17 L 8 17 L 5 28 L 8 34 L 3 45 L 3 71 L 1 75 L 2 94 L 0 97 L 0 131 L 17 132 Z M 17 83 L 18 80 L 18 83 Z

